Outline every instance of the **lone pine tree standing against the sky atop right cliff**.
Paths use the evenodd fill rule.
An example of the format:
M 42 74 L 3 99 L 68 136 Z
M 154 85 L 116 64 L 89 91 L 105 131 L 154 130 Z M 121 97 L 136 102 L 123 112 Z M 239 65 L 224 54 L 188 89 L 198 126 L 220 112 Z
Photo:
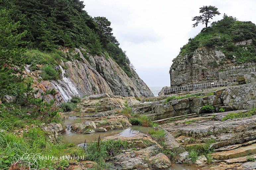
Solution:
M 196 23 L 193 24 L 193 27 L 196 27 L 198 25 L 198 23 L 203 23 L 205 24 L 206 28 L 207 28 L 207 24 L 209 21 L 209 19 L 213 19 L 213 16 L 215 16 L 216 14 L 217 15 L 220 15 L 221 13 L 219 13 L 218 8 L 214 7 L 214 6 L 204 6 L 204 7 L 201 7 L 199 8 L 200 11 L 199 13 L 202 13 L 201 16 L 196 16 L 196 17 L 193 17 L 192 21 L 195 21 L 196 20 Z

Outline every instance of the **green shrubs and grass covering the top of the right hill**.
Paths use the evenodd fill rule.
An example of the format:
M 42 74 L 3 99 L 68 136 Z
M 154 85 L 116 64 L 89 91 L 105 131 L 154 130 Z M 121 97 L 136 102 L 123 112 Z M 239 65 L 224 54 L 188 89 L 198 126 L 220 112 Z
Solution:
M 235 46 L 234 43 L 252 40 L 250 45 Z M 256 62 L 256 26 L 251 21 L 238 21 L 235 17 L 224 14 L 222 20 L 213 22 L 210 27 L 203 28 L 201 33 L 180 49 L 179 55 L 193 56 L 196 49 L 202 47 L 218 47 L 227 58 L 236 56 L 239 62 Z M 247 49 L 247 50 L 244 50 Z

